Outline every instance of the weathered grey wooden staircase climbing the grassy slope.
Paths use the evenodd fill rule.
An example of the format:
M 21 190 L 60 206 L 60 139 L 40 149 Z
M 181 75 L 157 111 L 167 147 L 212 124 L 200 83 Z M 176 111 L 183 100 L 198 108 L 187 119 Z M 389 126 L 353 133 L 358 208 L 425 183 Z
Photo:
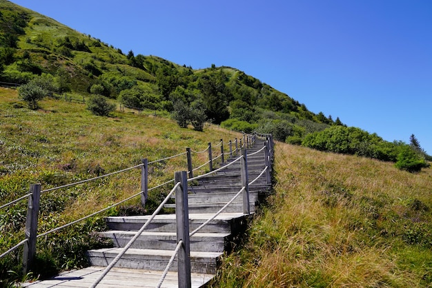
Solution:
M 257 139 L 253 148 L 247 150 L 248 154 L 257 152 L 264 145 L 264 141 Z M 228 159 L 230 163 L 234 159 Z M 199 178 L 193 185 L 188 186 L 188 207 L 190 232 L 214 216 L 226 203 L 242 188 L 239 161 L 228 168 Z M 251 182 L 265 167 L 264 151 L 247 157 L 248 179 Z M 190 266 L 193 287 L 205 285 L 213 276 L 220 264 L 224 251 L 228 253 L 233 249 L 237 238 L 246 231 L 248 220 L 268 192 L 265 175 L 261 176 L 253 185 L 249 186 L 249 202 L 251 214 L 243 213 L 242 195 L 240 194 L 222 214 L 211 220 L 199 232 L 190 236 Z M 166 207 L 175 207 L 166 204 Z M 110 238 L 114 247 L 88 251 L 92 267 L 85 270 L 91 275 L 90 280 L 84 276 L 73 276 L 77 271 L 66 272 L 52 280 L 34 283 L 25 283 L 25 287 L 88 287 L 101 274 L 121 251 L 129 240 L 135 236 L 150 216 L 108 217 L 106 219 L 109 231 L 100 235 Z M 177 245 L 175 214 L 159 214 L 148 225 L 147 229 L 137 238 L 135 243 L 126 251 L 126 254 L 110 271 L 106 278 L 97 287 L 156 287 L 170 257 Z M 125 271 L 132 271 L 128 278 Z M 168 278 L 161 287 L 178 287 L 175 275 L 177 264 L 170 268 Z M 125 273 L 124 273 L 125 272 Z M 124 273 L 124 274 L 122 274 Z M 115 282 L 110 275 L 118 276 L 120 282 Z M 124 276 L 126 275 L 126 276 Z M 159 276 L 159 277 L 157 277 Z M 70 279 L 70 280 L 68 280 Z M 74 280 L 72 282 L 72 280 Z M 126 281 L 126 282 L 125 282 Z M 50 283 L 52 285 L 50 286 Z M 57 283 L 57 284 L 55 284 Z

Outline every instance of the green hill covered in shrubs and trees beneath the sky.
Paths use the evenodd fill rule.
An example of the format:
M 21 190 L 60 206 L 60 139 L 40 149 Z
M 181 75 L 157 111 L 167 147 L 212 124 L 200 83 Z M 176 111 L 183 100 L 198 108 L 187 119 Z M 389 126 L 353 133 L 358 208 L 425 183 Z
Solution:
M 54 19 L 0 0 L 0 81 L 48 77 L 57 92 L 99 94 L 124 105 L 172 112 L 178 102 L 202 107 L 214 123 L 235 130 L 275 130 L 302 138 L 334 123 L 285 93 L 229 67 L 194 70 L 157 56 L 135 55 Z M 92 89 L 97 88 L 97 89 Z M 339 119 L 337 119 L 339 120 Z

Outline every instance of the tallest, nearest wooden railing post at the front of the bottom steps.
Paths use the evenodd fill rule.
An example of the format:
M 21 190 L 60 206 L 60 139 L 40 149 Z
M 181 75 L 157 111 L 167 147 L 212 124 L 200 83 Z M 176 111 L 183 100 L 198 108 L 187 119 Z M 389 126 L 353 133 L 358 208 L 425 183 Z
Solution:
M 175 172 L 175 183 L 181 183 L 175 192 L 175 218 L 177 220 L 177 243 L 183 241 L 177 254 L 178 285 L 191 287 L 190 281 L 190 242 L 188 212 L 188 178 L 186 171 Z

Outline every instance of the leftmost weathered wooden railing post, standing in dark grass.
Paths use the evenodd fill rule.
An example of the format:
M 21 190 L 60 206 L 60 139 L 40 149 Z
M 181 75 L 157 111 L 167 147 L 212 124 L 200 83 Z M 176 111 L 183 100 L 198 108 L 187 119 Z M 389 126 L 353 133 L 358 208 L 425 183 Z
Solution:
M 26 218 L 26 239 L 23 251 L 23 274 L 26 275 L 32 269 L 33 261 L 36 256 L 37 239 L 37 218 L 39 216 L 39 201 L 41 198 L 41 185 L 30 185 L 28 196 L 27 218 Z

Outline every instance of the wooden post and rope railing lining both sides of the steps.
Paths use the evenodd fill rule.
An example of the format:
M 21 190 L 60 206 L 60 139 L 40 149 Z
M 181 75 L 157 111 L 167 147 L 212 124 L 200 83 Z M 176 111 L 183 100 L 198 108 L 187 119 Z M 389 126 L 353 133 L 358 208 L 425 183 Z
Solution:
M 250 185 L 251 183 L 253 183 L 254 181 L 257 180 L 257 178 L 255 178 L 254 181 L 252 181 L 251 183 L 248 182 L 248 172 L 247 172 L 247 154 L 246 151 L 249 147 L 251 147 L 251 145 L 253 145 L 253 142 L 255 141 L 256 137 L 262 137 L 262 138 L 266 138 L 266 143 L 264 144 L 264 147 L 262 148 L 262 150 L 264 150 L 264 161 L 266 164 L 266 167 L 264 168 L 264 170 L 262 171 L 261 174 L 259 174 L 259 177 L 261 177 L 264 173 L 266 173 L 266 179 L 267 179 L 267 183 L 269 184 L 271 181 L 270 178 L 270 170 L 271 170 L 271 158 L 273 157 L 273 138 L 271 137 L 271 135 L 268 134 L 258 134 L 258 133 L 253 133 L 253 134 L 244 134 L 242 139 L 239 139 L 239 141 L 237 141 L 237 138 L 235 139 L 234 142 L 229 141 L 228 142 L 228 146 L 229 146 L 229 150 L 228 152 L 224 151 L 224 141 L 220 141 L 220 143 L 218 143 L 217 145 L 213 146 L 213 147 L 217 147 L 220 145 L 221 147 L 221 153 L 216 156 L 215 158 L 213 158 L 213 153 L 212 153 L 212 145 L 211 143 L 208 143 L 208 147 L 206 148 L 206 150 L 202 151 L 202 152 L 195 152 L 193 150 L 190 150 L 190 148 L 186 148 L 186 152 L 181 153 L 181 154 L 177 154 L 174 156 L 169 156 L 166 158 L 162 158 L 159 159 L 157 161 L 151 161 L 148 162 L 147 158 L 144 158 L 141 161 L 141 164 L 133 166 L 133 167 L 129 167 L 126 169 L 122 169 L 116 172 L 112 172 L 109 174 L 105 174 L 102 176 L 97 176 L 95 178 L 90 178 L 90 179 L 86 179 L 83 181 L 78 181 L 75 183 L 70 183 L 67 185 L 62 185 L 59 187 L 53 187 L 50 189 L 45 189 L 42 190 L 41 189 L 41 184 L 32 184 L 30 185 L 30 192 L 24 196 L 21 196 L 20 198 L 17 198 L 15 200 L 12 200 L 10 203 L 6 203 L 5 205 L 1 205 L 0 209 L 4 208 L 4 207 L 8 207 L 10 205 L 14 205 L 15 203 L 18 203 L 20 200 L 23 200 L 25 198 L 28 198 L 28 211 L 27 211 L 27 218 L 26 218 L 26 229 L 25 229 L 25 238 L 24 240 L 22 240 L 20 243 L 18 243 L 17 245 L 14 245 L 14 247 L 8 249 L 8 251 L 4 252 L 3 254 L 0 255 L 0 258 L 2 258 L 3 256 L 6 256 L 7 254 L 9 254 L 10 252 L 14 251 L 15 249 L 19 248 L 20 246 L 23 245 L 23 273 L 27 274 L 28 271 L 31 270 L 32 268 L 32 264 L 34 263 L 34 259 L 35 259 L 35 255 L 36 255 L 36 243 L 37 243 L 37 238 L 42 237 L 42 236 L 46 236 L 47 234 L 53 233 L 53 232 L 57 232 L 60 229 L 69 227 L 70 225 L 74 225 L 76 223 L 79 223 L 82 220 L 85 220 L 87 218 L 90 218 L 92 216 L 95 216 L 97 214 L 100 214 L 102 212 L 107 211 L 108 209 L 111 209 L 112 207 L 116 207 L 117 205 L 120 205 L 121 203 L 124 203 L 132 198 L 135 198 L 136 196 L 141 196 L 141 204 L 145 205 L 146 200 L 148 198 L 148 192 L 152 189 L 157 189 L 163 185 L 167 185 L 169 183 L 175 183 L 175 187 L 173 188 L 173 190 L 170 192 L 170 194 L 168 194 L 168 196 L 166 197 L 166 200 L 164 200 L 163 203 L 161 203 L 161 205 L 159 205 L 159 207 L 156 209 L 155 211 L 155 215 L 157 213 L 159 213 L 159 211 L 161 210 L 161 207 L 163 207 L 163 205 L 166 203 L 166 201 L 168 200 L 169 196 L 171 194 L 173 194 L 174 190 L 179 190 L 182 191 L 181 193 L 176 193 L 176 213 L 177 211 L 182 210 L 183 213 L 180 216 L 177 216 L 179 218 L 184 218 L 184 214 L 188 215 L 188 205 L 187 205 L 187 183 L 188 181 L 195 181 L 199 178 L 202 178 L 204 176 L 208 176 L 210 174 L 219 172 L 222 169 L 225 169 L 226 167 L 229 167 L 230 165 L 232 165 L 233 163 L 235 163 L 236 161 L 241 161 L 242 165 L 242 189 L 237 193 L 237 195 L 230 201 L 228 201 L 227 205 L 225 207 L 223 207 L 219 212 L 217 212 L 217 214 L 215 214 L 214 217 L 216 217 L 218 214 L 220 214 L 226 207 L 228 207 L 228 205 L 230 203 L 233 202 L 233 200 L 235 198 L 237 198 L 237 196 L 239 196 L 239 194 L 243 194 L 243 203 L 244 203 L 244 213 L 245 214 L 249 214 L 250 213 L 250 207 L 249 207 L 249 196 L 248 196 L 248 185 Z M 233 144 L 234 143 L 234 144 Z M 235 147 L 235 149 L 233 149 L 233 145 Z M 259 151 L 262 151 L 259 150 Z M 204 163 L 203 165 L 200 165 L 197 168 L 193 168 L 193 163 L 192 163 L 192 157 L 191 154 L 192 153 L 205 153 L 208 152 L 208 162 Z M 186 154 L 186 158 L 187 158 L 187 163 L 188 163 L 188 171 L 184 171 L 184 172 L 176 172 L 175 173 L 175 179 L 168 181 L 166 183 L 162 183 L 161 185 L 157 185 L 153 188 L 148 188 L 148 165 L 153 164 L 153 163 L 157 163 L 160 161 L 166 161 L 170 158 L 175 158 L 178 156 L 183 156 Z M 219 169 L 213 169 L 213 163 L 214 161 L 216 161 L 218 158 L 221 158 L 222 164 L 224 163 L 224 156 L 227 155 L 229 156 L 229 158 L 233 158 L 233 155 L 240 155 L 235 161 L 219 168 Z M 208 165 L 209 167 L 209 171 L 206 174 L 202 174 L 199 176 L 193 176 L 193 172 L 196 171 L 199 168 L 204 167 L 205 165 Z M 61 189 L 61 188 L 66 188 L 66 187 L 72 187 L 75 185 L 80 185 L 83 183 L 87 183 L 90 181 L 95 181 L 96 179 L 99 178 L 104 178 L 104 177 L 108 177 L 114 174 L 119 174 L 122 172 L 126 172 L 128 170 L 131 169 L 141 169 L 141 191 L 137 194 L 134 194 L 124 200 L 121 200 L 119 203 L 115 203 L 114 205 L 110 205 L 109 207 L 106 207 L 104 209 L 99 210 L 98 212 L 95 212 L 93 214 L 90 214 L 88 216 L 85 216 L 83 218 L 80 218 L 78 220 L 72 221 L 70 223 L 67 223 L 65 225 L 62 225 L 60 227 L 57 227 L 55 229 L 52 229 L 48 232 L 44 232 L 42 234 L 37 234 L 37 223 L 38 223 L 38 215 L 39 215 L 39 199 L 41 194 L 43 194 L 44 192 L 49 192 L 55 189 Z M 180 187 L 180 188 L 179 188 Z M 184 190 L 186 189 L 186 192 L 184 192 Z M 185 194 L 186 193 L 186 194 Z M 184 195 L 183 195 L 184 194 Z M 183 196 L 181 196 L 183 195 Z M 177 197 L 184 197 L 182 199 L 177 199 Z M 186 198 L 185 198 L 186 197 Z M 178 209 L 177 207 L 177 203 L 184 203 L 184 204 L 178 204 L 181 205 L 181 209 Z M 185 210 L 186 209 L 186 210 Z M 213 220 L 213 219 L 212 219 Z M 209 221 L 208 221 L 209 222 Z M 204 223 L 204 225 L 206 225 L 208 222 Z M 150 223 L 150 220 L 148 220 L 148 222 L 145 224 L 148 225 L 148 223 Z M 185 224 L 186 225 L 186 224 Z M 203 225 L 203 227 L 204 227 Z M 183 225 L 181 225 L 180 227 L 184 227 Z M 145 228 L 145 227 L 144 227 Z M 198 229 L 196 229 L 194 232 L 191 233 L 191 235 L 195 234 L 199 229 L 201 229 L 202 227 L 199 227 Z M 144 229 L 143 229 L 144 230 Z M 184 232 L 185 233 L 185 232 Z M 141 233 L 139 233 L 141 234 Z M 138 235 L 138 234 L 137 234 Z M 139 235 L 138 235 L 139 236 Z M 180 235 L 180 239 L 183 241 L 183 245 L 181 245 L 181 247 L 183 248 L 179 248 L 180 252 L 179 253 L 186 253 L 185 251 L 181 250 L 181 249 L 185 249 L 184 247 L 186 247 L 186 245 L 188 246 L 188 243 L 186 243 L 185 240 L 185 236 L 184 234 Z M 187 254 L 188 255 L 188 254 Z M 190 260 L 189 260 L 190 261 Z M 187 262 L 187 260 L 186 260 Z M 185 263 L 184 261 L 179 261 L 179 263 Z M 187 266 L 187 263 L 184 264 Z M 189 278 L 190 278 L 190 265 L 189 268 L 185 268 L 185 267 L 179 267 L 179 271 L 183 271 L 184 269 L 186 269 L 186 271 L 188 270 L 188 274 L 189 274 Z M 181 273 L 179 273 L 180 275 Z M 183 275 L 183 274 L 182 274 Z M 183 276 L 182 276 L 183 277 Z

